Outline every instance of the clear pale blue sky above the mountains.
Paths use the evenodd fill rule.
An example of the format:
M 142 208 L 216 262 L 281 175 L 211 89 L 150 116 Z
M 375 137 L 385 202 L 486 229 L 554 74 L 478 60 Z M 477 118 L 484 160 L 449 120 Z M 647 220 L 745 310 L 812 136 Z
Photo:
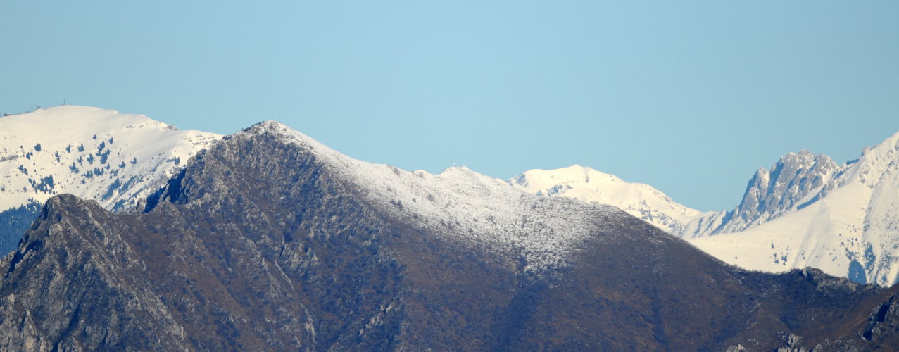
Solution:
M 580 163 L 700 210 L 899 131 L 897 1 L 4 0 L 0 51 L 0 112 L 277 119 L 369 162 Z

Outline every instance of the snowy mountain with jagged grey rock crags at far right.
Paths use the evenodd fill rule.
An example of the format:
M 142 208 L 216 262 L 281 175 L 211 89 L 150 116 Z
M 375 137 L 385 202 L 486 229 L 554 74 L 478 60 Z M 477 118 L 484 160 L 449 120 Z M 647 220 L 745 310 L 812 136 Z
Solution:
M 842 165 L 806 151 L 786 154 L 770 172 L 756 173 L 740 207 L 699 221 L 721 224 L 705 233 L 716 235 L 690 242 L 744 268 L 810 266 L 892 285 L 899 280 L 899 133 Z

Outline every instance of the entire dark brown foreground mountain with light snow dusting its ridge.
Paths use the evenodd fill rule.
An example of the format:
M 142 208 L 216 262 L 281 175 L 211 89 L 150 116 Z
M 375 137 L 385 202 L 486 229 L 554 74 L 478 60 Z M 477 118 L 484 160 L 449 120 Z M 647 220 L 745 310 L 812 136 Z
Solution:
M 895 295 L 729 267 L 617 209 L 473 172 L 360 175 L 283 129 L 200 153 L 143 214 L 51 198 L 0 263 L 0 346 L 770 350 L 787 333 L 839 347 Z M 503 207 L 473 218 L 478 199 Z M 875 332 L 890 321 L 856 346 L 899 347 Z

